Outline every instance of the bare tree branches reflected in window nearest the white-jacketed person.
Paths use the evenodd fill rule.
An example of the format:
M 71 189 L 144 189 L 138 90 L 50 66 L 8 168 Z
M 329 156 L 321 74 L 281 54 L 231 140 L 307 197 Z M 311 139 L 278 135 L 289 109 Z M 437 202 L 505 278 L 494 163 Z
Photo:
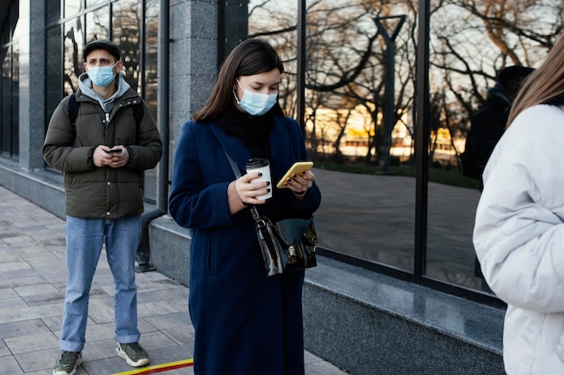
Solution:
M 549 0 L 447 0 L 432 17 L 432 75 L 444 93 L 441 111 L 464 138 L 468 119 L 496 73 L 510 65 L 534 67 L 562 28 L 564 4 Z M 457 155 L 459 151 L 456 151 Z

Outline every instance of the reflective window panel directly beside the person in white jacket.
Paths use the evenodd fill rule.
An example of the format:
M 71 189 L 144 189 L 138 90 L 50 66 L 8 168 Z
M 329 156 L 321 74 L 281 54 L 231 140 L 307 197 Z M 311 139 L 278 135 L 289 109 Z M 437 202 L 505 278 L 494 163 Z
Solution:
M 472 244 L 481 171 L 468 175 L 487 162 L 513 98 L 505 96 L 504 103 L 494 104 L 498 118 L 476 114 L 492 95 L 500 94 L 496 76 L 501 69 L 535 67 L 545 56 L 561 26 L 562 4 L 455 0 L 433 6 L 426 275 L 490 293 Z M 489 134 L 470 137 L 468 143 L 472 121 Z M 470 149 L 479 149 L 471 155 L 484 161 L 463 165 L 469 154 L 460 156 Z

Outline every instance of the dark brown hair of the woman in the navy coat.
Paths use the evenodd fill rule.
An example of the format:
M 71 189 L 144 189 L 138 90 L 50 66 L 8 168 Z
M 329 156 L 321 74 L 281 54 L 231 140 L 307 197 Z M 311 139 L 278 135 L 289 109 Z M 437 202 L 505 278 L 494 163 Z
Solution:
M 214 90 L 204 107 L 194 114 L 194 121 L 213 120 L 225 111 L 228 105 L 234 103 L 235 78 L 254 76 L 276 68 L 280 74 L 284 73 L 282 60 L 266 41 L 259 39 L 241 41 L 223 62 Z M 283 113 L 278 103 L 275 104 L 275 111 L 279 114 Z

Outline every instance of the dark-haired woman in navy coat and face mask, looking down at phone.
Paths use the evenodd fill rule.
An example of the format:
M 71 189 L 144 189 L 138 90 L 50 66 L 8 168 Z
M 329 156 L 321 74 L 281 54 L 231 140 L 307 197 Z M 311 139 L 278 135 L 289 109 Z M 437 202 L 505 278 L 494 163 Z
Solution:
M 304 272 L 267 278 L 254 220 L 306 218 L 321 193 L 307 171 L 274 185 L 307 160 L 296 121 L 277 103 L 284 67 L 261 40 L 241 42 L 223 63 L 214 91 L 186 123 L 173 165 L 169 210 L 192 229 L 189 308 L 195 327 L 196 375 L 304 374 Z M 244 173 L 252 157 L 267 158 L 272 182 L 258 173 L 235 179 L 225 152 Z M 257 198 L 271 191 L 272 198 Z

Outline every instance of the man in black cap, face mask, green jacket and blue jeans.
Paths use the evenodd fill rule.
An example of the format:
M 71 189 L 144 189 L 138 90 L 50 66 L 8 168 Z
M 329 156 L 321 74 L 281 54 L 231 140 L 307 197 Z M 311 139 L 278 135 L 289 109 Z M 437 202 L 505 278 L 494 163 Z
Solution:
M 123 77 L 119 48 L 94 40 L 83 51 L 86 72 L 74 94 L 79 105 L 69 105 L 71 95 L 59 103 L 43 144 L 47 164 L 64 173 L 67 214 L 62 353 L 53 375 L 74 375 L 82 361 L 90 288 L 104 246 L 114 276 L 115 350 L 131 366 L 149 363 L 139 344 L 135 254 L 142 171 L 159 163 L 162 144 L 147 104 Z M 136 105 L 142 105 L 139 123 Z

